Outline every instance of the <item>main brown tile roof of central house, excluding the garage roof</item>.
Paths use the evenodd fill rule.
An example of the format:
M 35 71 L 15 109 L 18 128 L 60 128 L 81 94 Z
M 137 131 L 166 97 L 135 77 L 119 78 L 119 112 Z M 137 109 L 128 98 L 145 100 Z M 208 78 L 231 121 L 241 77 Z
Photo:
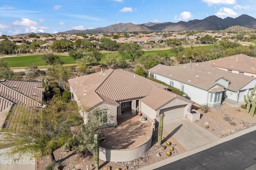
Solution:
M 153 86 L 167 88 L 122 69 L 96 72 L 68 82 L 82 106 L 90 108 L 102 102 L 118 105 L 116 101 L 143 98 L 148 96 Z

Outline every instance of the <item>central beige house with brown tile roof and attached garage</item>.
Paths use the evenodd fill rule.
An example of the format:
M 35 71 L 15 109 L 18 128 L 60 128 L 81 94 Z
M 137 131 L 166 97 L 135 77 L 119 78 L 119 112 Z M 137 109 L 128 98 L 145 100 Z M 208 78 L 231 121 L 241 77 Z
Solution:
M 103 127 L 117 125 L 118 118 L 138 112 L 150 121 L 158 121 L 161 113 L 164 121 L 187 117 L 193 103 L 169 92 L 167 86 L 122 69 L 96 72 L 68 82 L 80 106 L 89 110 L 102 109 Z M 86 118 L 84 121 L 86 123 Z

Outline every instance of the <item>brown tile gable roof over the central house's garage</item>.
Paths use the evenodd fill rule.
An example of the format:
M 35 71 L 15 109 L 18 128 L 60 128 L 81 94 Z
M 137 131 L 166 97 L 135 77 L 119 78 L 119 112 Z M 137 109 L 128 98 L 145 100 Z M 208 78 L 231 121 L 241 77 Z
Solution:
M 158 110 L 160 107 L 168 104 L 170 101 L 174 100 L 175 98 L 179 98 L 181 100 L 186 100 L 187 102 L 193 103 L 191 100 L 183 98 L 182 96 L 176 95 L 168 90 L 160 89 L 157 87 L 152 87 L 150 94 L 140 101 L 146 104 L 147 106 L 151 107 L 154 110 Z

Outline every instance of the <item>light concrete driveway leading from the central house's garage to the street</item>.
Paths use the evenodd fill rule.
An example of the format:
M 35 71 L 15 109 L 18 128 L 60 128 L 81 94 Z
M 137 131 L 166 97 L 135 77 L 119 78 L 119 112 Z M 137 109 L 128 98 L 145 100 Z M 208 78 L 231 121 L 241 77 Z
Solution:
M 195 149 L 218 140 L 218 137 L 215 137 L 187 118 L 164 122 L 163 128 L 170 133 L 168 136 L 176 139 L 186 150 Z

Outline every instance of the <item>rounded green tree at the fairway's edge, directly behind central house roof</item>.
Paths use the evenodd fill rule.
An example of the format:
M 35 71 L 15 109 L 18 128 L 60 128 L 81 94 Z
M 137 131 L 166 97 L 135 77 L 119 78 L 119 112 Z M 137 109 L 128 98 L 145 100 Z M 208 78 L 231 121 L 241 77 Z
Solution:
M 127 57 L 134 61 L 134 59 L 138 59 L 140 56 L 142 56 L 144 51 L 142 51 L 142 47 L 137 43 L 124 43 L 119 48 L 118 53 L 122 55 L 122 57 Z

